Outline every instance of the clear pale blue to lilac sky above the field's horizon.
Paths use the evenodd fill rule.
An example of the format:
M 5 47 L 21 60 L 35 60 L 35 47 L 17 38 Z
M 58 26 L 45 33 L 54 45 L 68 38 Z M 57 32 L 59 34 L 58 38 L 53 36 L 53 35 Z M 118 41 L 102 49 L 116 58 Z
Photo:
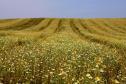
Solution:
M 0 18 L 126 17 L 126 0 L 0 0 Z

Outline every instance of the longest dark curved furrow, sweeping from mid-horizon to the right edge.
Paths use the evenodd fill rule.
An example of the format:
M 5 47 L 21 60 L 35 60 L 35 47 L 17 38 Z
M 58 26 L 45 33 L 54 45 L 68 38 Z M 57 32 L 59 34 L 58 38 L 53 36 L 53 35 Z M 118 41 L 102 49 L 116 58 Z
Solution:
M 73 31 L 80 36 L 81 39 L 87 39 L 91 42 L 96 42 L 96 43 L 99 43 L 102 45 L 109 46 L 110 48 L 116 48 L 119 51 L 121 51 L 121 53 L 123 53 L 123 56 L 126 57 L 126 53 L 124 52 L 124 51 L 126 51 L 125 41 L 121 42 L 120 40 L 117 40 L 114 38 L 113 39 L 107 38 L 104 36 L 91 34 L 91 33 L 85 32 L 85 31 L 80 31 L 79 27 L 77 27 L 73 21 L 71 21 L 71 27 L 72 27 Z

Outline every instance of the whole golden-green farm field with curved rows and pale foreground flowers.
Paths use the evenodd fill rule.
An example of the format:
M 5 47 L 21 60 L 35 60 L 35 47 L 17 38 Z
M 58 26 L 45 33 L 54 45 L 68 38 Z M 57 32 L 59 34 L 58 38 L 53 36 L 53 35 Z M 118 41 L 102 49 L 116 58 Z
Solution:
M 0 20 L 0 84 L 126 84 L 126 18 Z

